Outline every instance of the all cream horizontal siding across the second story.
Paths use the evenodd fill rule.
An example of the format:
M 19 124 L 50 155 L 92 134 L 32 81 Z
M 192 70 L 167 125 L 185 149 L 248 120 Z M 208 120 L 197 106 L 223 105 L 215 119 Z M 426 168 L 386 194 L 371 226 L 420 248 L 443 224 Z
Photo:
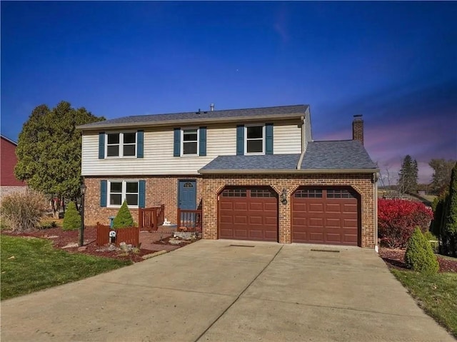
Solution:
M 196 175 L 216 156 L 236 154 L 236 125 L 209 126 L 206 156 L 173 156 L 174 131 L 145 129 L 144 158 L 99 159 L 99 134 L 83 136 L 83 176 Z M 295 124 L 273 126 L 274 154 L 300 154 L 301 128 Z

